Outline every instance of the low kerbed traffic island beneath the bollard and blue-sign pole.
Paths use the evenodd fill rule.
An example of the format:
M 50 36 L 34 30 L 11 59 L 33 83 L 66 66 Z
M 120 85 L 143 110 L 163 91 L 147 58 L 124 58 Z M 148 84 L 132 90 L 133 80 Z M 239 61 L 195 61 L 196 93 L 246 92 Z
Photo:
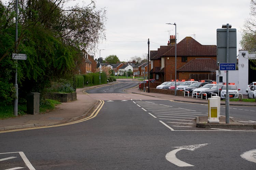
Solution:
M 229 118 L 229 123 L 226 123 L 226 117 L 221 116 L 219 123 L 208 123 L 208 116 L 196 117 L 197 128 L 225 128 L 225 129 L 256 129 L 255 124 L 244 124 Z

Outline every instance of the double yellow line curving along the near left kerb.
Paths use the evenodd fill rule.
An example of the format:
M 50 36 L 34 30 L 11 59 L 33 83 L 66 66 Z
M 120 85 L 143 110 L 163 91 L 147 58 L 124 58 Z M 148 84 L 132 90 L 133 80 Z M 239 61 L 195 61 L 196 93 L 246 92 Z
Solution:
M 42 126 L 42 127 L 36 127 L 36 128 L 26 128 L 26 129 L 15 129 L 15 130 L 9 130 L 9 131 L 2 131 L 0 133 L 7 133 L 7 132 L 17 132 L 17 131 L 25 131 L 25 130 L 32 130 L 32 129 L 43 129 L 43 128 L 53 128 L 53 127 L 58 127 L 58 126 L 65 126 L 65 125 L 70 125 L 70 124 L 75 124 L 75 123 L 80 123 L 83 121 L 87 121 L 90 119 L 95 118 L 98 113 L 100 112 L 100 109 L 103 107 L 104 105 L 104 101 L 103 100 L 99 100 L 100 104 L 97 106 L 97 108 L 95 108 L 95 110 L 93 111 L 93 113 L 91 113 L 91 115 L 89 117 L 77 120 L 77 121 L 73 121 L 73 122 L 69 122 L 69 123 L 63 123 L 63 124 L 57 124 L 57 125 L 51 125 L 51 126 Z

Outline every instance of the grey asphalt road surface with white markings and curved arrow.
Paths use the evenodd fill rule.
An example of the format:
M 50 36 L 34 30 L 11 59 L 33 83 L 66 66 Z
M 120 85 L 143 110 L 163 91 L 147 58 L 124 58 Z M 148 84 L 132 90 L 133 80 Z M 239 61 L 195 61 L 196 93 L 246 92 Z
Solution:
M 0 169 L 255 169 L 255 131 L 195 128 L 205 105 L 123 92 L 136 85 L 87 90 L 104 100 L 93 119 L 0 133 Z M 255 120 L 239 108 L 234 115 Z

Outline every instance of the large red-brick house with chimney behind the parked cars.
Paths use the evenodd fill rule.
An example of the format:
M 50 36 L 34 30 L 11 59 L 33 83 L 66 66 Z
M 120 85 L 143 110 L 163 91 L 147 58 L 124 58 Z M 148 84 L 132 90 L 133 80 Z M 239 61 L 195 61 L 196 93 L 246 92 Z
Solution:
M 217 47 L 216 45 L 201 45 L 192 37 L 185 37 L 176 45 L 176 78 L 179 80 L 191 77 L 191 73 L 196 74 L 207 74 L 212 70 L 195 70 L 197 68 L 193 68 L 189 70 L 189 67 L 192 63 L 186 67 L 186 71 L 182 71 L 182 67 L 188 64 L 190 61 L 195 60 L 196 58 L 211 58 L 211 63 L 216 66 L 216 57 L 217 57 Z M 197 62 L 199 60 L 195 60 Z M 209 60 L 200 60 L 201 65 L 207 65 Z M 151 64 L 153 67 L 151 69 L 151 73 L 153 73 L 153 78 L 160 82 L 170 81 L 175 79 L 175 37 L 170 36 L 170 42 L 168 46 L 160 46 L 160 48 L 156 51 L 151 52 Z M 178 74 L 179 70 L 179 74 Z M 190 77 L 188 73 L 184 74 L 184 72 L 190 72 Z M 196 79 L 195 79 L 196 80 Z M 198 80 L 197 80 L 198 81 Z

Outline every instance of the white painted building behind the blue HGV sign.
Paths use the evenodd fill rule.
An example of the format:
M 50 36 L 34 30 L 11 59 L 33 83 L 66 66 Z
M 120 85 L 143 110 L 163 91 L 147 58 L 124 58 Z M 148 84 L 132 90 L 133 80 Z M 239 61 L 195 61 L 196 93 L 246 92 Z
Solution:
M 248 53 L 246 50 L 239 50 L 238 70 L 228 71 L 228 82 L 235 83 L 240 89 L 239 92 L 241 94 L 247 94 L 245 89 L 248 85 L 249 59 L 256 59 L 256 53 Z M 226 82 L 226 71 L 216 70 L 216 81 L 220 84 Z

